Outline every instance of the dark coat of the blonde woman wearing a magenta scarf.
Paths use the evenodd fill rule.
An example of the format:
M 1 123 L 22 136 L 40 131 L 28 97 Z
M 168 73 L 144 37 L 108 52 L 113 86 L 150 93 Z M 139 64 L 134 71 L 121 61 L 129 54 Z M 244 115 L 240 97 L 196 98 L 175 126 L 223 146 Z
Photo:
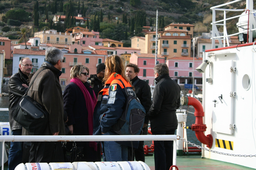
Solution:
M 84 83 L 85 87 L 93 97 L 93 89 L 89 83 Z M 67 125 L 73 125 L 75 135 L 89 135 L 88 111 L 85 98 L 80 88 L 71 82 L 67 85 L 63 93 L 64 110 L 67 112 L 69 121 Z

